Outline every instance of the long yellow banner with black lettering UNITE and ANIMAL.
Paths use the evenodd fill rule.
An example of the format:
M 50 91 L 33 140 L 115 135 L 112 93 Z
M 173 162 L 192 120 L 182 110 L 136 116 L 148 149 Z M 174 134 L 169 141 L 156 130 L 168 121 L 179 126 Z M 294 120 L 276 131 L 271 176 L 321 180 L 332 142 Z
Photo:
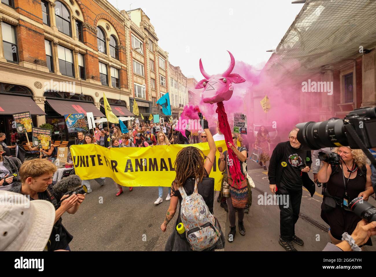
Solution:
M 215 142 L 217 148 L 227 150 L 224 141 Z M 174 162 L 177 153 L 188 146 L 209 154 L 209 144 L 171 144 L 154 147 L 105 148 L 96 144 L 72 145 L 76 174 L 83 180 L 99 177 L 112 178 L 124 187 L 170 187 L 176 177 Z M 219 152 L 209 174 L 214 178 L 214 189 L 221 189 L 222 173 L 218 168 Z

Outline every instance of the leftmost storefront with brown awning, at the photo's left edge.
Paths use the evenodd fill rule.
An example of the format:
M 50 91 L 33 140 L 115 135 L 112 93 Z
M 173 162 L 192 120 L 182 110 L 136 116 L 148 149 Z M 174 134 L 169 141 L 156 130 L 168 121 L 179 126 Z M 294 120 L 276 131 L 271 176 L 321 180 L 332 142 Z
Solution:
M 15 141 L 11 141 L 11 135 L 16 130 L 12 114 L 30 112 L 33 126 L 37 126 L 37 116 L 45 115 L 33 101 L 32 96 L 32 91 L 25 86 L 0 83 L 0 133 L 5 133 L 7 145 L 15 144 Z M 17 139 L 18 144 L 26 142 L 26 137 L 23 135 L 18 136 Z

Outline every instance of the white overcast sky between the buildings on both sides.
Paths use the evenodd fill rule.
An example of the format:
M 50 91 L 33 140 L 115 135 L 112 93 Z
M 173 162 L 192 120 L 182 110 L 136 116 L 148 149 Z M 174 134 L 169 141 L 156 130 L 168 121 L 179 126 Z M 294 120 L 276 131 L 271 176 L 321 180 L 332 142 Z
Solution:
M 271 56 L 303 4 L 291 0 L 109 0 L 119 10 L 141 8 L 150 18 L 173 66 L 201 80 L 199 60 L 209 74 L 235 60 L 261 67 Z M 129 6 L 131 4 L 131 6 Z

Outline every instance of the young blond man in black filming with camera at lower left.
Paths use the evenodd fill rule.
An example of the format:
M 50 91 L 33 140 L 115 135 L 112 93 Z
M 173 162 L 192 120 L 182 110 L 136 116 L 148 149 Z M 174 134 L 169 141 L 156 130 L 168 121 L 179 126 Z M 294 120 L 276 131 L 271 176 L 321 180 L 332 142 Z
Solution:
M 56 166 L 46 159 L 33 159 L 24 162 L 20 168 L 22 185 L 18 185 L 13 192 L 30 195 L 30 200 L 47 200 L 55 206 L 55 225 L 47 244 L 48 251 L 58 249 L 70 250 L 69 243 L 73 236 L 65 230 L 62 225 L 61 216 L 67 211 L 70 214 L 76 213 L 79 205 L 85 200 L 83 194 L 67 195 L 55 194 L 51 184 L 52 176 L 56 171 Z M 63 200 L 61 203 L 58 200 Z

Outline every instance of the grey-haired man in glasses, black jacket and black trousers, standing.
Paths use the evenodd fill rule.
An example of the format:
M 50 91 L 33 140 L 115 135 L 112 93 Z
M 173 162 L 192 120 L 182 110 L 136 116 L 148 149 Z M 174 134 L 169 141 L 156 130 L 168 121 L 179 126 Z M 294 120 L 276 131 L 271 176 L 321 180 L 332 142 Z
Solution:
M 308 176 L 312 163 L 311 151 L 302 150 L 296 137 L 298 130 L 294 128 L 290 132 L 288 135 L 290 141 L 277 144 L 271 155 L 268 170 L 270 191 L 277 194 L 277 200 L 279 200 L 279 244 L 286 251 L 297 251 L 292 242 L 298 245 L 304 244 L 303 240 L 295 235 L 295 223 L 299 218 L 302 186 L 303 184 L 308 186 L 313 183 Z M 311 191 L 311 194 L 314 193 L 311 189 L 309 191 Z

